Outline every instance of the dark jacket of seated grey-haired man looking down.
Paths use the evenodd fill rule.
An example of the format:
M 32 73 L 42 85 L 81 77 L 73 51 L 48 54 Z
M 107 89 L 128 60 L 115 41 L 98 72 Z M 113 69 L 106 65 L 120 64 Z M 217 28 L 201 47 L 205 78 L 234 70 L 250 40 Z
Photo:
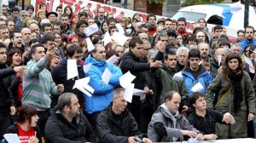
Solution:
M 112 111 L 112 103 L 98 115 L 96 126 L 101 142 L 125 143 L 130 136 L 147 137 L 138 130 L 131 112 L 125 109 L 117 115 Z

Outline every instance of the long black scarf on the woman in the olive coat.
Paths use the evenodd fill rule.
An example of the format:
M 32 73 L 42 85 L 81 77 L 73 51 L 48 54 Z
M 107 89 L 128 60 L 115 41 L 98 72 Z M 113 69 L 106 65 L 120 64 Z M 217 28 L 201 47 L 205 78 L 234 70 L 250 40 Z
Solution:
M 236 72 L 237 73 L 237 72 Z M 234 112 L 237 113 L 241 109 L 241 100 L 242 99 L 242 93 L 241 93 L 241 77 L 242 74 L 236 74 L 232 71 L 229 73 L 229 78 L 232 81 L 232 86 L 234 89 Z

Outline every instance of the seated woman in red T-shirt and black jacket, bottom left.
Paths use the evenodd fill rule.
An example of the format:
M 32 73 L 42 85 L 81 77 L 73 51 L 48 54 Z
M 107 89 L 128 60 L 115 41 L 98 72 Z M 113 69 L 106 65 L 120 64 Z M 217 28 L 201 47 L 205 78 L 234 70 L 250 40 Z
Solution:
M 22 143 L 41 143 L 41 131 L 37 126 L 38 118 L 35 107 L 23 105 L 18 111 L 18 122 L 9 126 L 6 134 L 18 134 Z

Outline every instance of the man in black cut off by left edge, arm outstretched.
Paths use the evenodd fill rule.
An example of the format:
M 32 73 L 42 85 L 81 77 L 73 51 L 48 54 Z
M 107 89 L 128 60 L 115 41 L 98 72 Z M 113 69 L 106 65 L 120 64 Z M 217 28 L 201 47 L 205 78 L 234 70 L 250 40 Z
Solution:
M 15 72 L 23 75 L 25 72 L 24 66 L 16 66 L 14 68 L 6 66 L 6 45 L 0 43 L 0 140 L 6 129 L 11 125 L 10 115 L 15 115 L 15 100 L 9 91 L 5 77 L 9 77 Z

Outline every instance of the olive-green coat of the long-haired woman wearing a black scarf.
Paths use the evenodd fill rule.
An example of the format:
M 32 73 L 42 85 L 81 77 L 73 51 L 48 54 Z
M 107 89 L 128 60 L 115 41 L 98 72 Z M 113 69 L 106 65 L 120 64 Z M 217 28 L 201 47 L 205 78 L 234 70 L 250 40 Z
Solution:
M 207 88 L 206 92 L 206 100 L 207 100 L 207 107 L 213 108 L 213 93 L 218 93 L 218 100 L 230 89 L 232 83 L 230 79 L 227 79 L 223 76 L 222 73 L 220 73 L 217 77 L 215 77 L 210 83 L 210 85 Z M 249 77 L 247 72 L 243 72 L 243 76 L 241 78 L 241 93 L 242 93 L 242 99 L 241 100 L 241 111 L 243 112 L 251 112 L 255 113 L 255 93 L 253 90 L 253 83 L 251 78 Z M 233 97 L 234 97 L 234 89 L 230 89 L 230 92 L 224 97 L 223 100 L 221 100 L 216 106 L 216 109 L 219 112 L 234 112 L 234 106 L 233 106 Z M 246 105 L 246 100 L 248 103 L 248 106 Z

